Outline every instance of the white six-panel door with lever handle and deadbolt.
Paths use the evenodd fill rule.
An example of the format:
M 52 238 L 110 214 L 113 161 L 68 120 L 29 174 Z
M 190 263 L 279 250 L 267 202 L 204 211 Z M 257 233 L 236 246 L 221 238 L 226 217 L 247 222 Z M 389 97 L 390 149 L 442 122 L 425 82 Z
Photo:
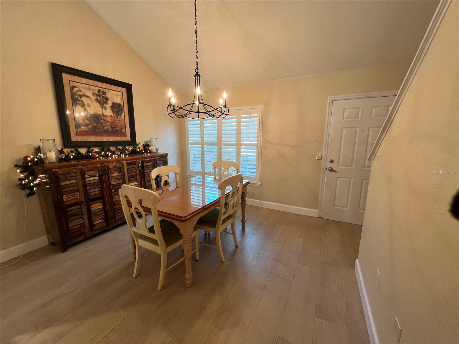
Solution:
M 370 178 L 368 155 L 395 96 L 334 100 L 322 217 L 362 224 Z

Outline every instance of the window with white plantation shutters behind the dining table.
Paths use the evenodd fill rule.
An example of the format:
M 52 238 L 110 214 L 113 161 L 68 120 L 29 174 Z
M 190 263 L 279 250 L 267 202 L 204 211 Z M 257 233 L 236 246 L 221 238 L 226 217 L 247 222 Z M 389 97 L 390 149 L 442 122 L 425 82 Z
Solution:
M 188 174 L 213 176 L 214 161 L 231 160 L 244 179 L 260 186 L 262 113 L 262 106 L 249 106 L 230 108 L 222 119 L 187 119 Z

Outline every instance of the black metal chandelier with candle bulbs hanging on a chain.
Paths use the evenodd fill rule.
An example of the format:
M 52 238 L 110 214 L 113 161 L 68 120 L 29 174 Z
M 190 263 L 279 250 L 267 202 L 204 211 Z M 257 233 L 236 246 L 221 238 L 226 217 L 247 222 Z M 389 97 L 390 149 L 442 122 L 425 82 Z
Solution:
M 196 12 L 196 0 L 195 0 L 195 37 L 196 37 L 196 68 L 195 68 L 195 92 L 193 95 L 193 102 L 183 106 L 175 105 L 175 98 L 172 94 L 172 90 L 169 89 L 169 105 L 167 107 L 167 114 L 172 118 L 193 118 L 193 119 L 204 119 L 208 117 L 212 118 L 224 118 L 229 114 L 229 108 L 226 106 L 226 92 L 223 91 L 222 98 L 220 98 L 220 106 L 213 107 L 212 105 L 204 103 L 202 100 L 201 92 L 201 75 L 199 75 L 198 68 L 198 24 L 197 24 L 197 12 Z

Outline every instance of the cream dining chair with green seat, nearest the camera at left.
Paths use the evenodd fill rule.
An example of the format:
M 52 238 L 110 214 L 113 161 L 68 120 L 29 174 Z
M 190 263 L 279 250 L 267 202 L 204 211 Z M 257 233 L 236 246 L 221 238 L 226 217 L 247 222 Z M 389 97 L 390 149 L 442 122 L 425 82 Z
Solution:
M 139 275 L 140 260 L 142 257 L 142 247 L 145 247 L 146 249 L 151 250 L 153 252 L 159 253 L 161 255 L 161 270 L 159 272 L 158 290 L 161 290 L 162 284 L 164 283 L 164 276 L 166 274 L 166 271 L 176 266 L 181 261 L 185 260 L 185 257 L 183 257 L 171 266 L 169 266 L 168 268 L 166 268 L 168 252 L 174 250 L 176 247 L 183 244 L 183 237 L 180 233 L 180 229 L 177 226 L 175 226 L 174 222 L 165 219 L 159 219 L 157 204 L 160 202 L 161 198 L 156 192 L 148 189 L 142 189 L 135 186 L 123 184 L 121 185 L 119 194 L 121 204 L 123 206 L 124 217 L 126 218 L 126 222 L 128 222 L 129 232 L 134 237 L 135 242 L 135 265 L 133 277 L 135 278 Z M 129 198 L 131 206 L 128 205 L 126 197 Z M 144 205 L 148 203 L 151 207 L 153 226 L 146 226 L 147 219 L 145 211 L 140 206 L 141 202 Z M 139 223 L 139 227 L 135 226 L 131 214 Z M 193 253 L 196 251 L 196 261 L 199 261 L 198 234 L 199 232 L 196 231 L 196 249 L 191 252 Z

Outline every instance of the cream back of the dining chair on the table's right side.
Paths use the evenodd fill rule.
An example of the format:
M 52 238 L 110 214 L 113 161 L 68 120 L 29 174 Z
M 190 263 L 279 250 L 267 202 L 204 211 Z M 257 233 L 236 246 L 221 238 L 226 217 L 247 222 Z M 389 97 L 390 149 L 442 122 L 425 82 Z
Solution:
M 237 211 L 241 201 L 242 183 L 243 178 L 241 173 L 226 177 L 220 183 L 218 183 L 218 189 L 221 190 L 222 195 L 220 199 L 220 214 L 218 215 L 218 223 L 220 225 L 229 215 L 235 216 L 235 212 Z M 225 194 L 226 189 L 229 187 L 231 188 L 231 191 L 229 192 L 228 205 L 226 207 L 225 213 Z

